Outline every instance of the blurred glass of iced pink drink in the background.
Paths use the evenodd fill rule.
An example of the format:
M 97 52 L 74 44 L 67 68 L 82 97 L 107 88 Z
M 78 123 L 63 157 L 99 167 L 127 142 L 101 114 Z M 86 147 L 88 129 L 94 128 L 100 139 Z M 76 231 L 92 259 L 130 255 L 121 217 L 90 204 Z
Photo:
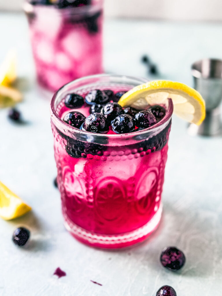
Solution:
M 102 0 L 51 2 L 27 1 L 24 9 L 38 83 L 55 92 L 76 78 L 103 72 L 103 6 Z

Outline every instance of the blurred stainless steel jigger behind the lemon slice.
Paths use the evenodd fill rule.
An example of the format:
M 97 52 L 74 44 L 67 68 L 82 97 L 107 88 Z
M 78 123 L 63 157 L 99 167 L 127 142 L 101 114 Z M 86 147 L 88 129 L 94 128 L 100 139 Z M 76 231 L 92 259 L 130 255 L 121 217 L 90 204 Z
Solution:
M 202 59 L 191 67 L 194 88 L 206 103 L 206 117 L 200 126 L 190 124 L 192 135 L 217 136 L 221 134 L 222 60 Z

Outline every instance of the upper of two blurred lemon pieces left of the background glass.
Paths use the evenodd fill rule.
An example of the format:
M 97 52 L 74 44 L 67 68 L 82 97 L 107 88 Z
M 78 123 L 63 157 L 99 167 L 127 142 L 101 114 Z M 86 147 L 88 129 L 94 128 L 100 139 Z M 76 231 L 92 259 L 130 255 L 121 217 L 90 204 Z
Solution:
M 11 49 L 0 66 L 0 85 L 9 86 L 16 78 L 16 52 L 15 49 Z

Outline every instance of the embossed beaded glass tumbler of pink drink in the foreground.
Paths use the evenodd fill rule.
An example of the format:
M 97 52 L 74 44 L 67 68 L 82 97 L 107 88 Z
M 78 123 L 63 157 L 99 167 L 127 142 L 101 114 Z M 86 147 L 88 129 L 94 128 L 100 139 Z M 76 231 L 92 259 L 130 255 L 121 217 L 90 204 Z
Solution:
M 128 91 L 144 82 L 120 75 L 88 76 L 63 86 L 51 102 L 65 227 L 95 247 L 126 247 L 143 241 L 157 228 L 173 104 L 169 99 L 166 115 L 155 127 L 99 134 L 61 120 L 64 98 L 72 92 L 84 96 L 92 89 Z

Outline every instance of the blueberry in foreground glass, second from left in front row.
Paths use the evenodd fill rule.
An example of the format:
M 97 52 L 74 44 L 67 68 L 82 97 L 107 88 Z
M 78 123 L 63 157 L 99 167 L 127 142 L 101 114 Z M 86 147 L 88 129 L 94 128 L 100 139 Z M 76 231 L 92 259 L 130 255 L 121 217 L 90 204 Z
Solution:
M 90 114 L 83 123 L 83 129 L 91 133 L 108 131 L 105 116 L 97 112 Z

